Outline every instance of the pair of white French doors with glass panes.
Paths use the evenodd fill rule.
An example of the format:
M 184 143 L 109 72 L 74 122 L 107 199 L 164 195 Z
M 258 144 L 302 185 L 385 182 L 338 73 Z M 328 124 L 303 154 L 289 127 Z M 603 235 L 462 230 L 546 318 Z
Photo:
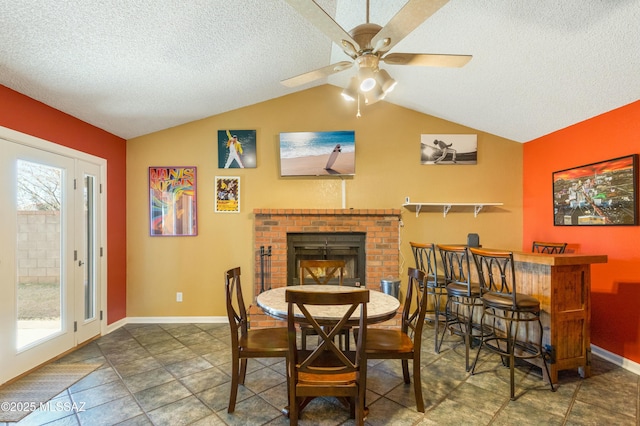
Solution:
M 0 138 L 0 384 L 100 333 L 101 167 Z

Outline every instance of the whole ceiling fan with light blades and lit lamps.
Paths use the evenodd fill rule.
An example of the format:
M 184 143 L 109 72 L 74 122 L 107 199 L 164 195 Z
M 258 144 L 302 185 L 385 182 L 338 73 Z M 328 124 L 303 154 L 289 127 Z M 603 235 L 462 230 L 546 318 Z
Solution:
M 344 71 L 351 68 L 353 64 L 357 64 L 358 75 L 351 79 L 342 95 L 346 99 L 355 100 L 358 94 L 362 94 L 365 102 L 371 104 L 384 98 L 393 90 L 396 83 L 387 71 L 379 68 L 380 62 L 389 65 L 462 67 L 471 60 L 471 55 L 387 53 L 448 1 L 409 0 L 387 25 L 381 27 L 369 22 L 369 0 L 367 0 L 366 23 L 347 32 L 315 1 L 286 0 L 298 13 L 340 46 L 353 61 L 340 61 L 282 80 L 281 83 L 288 87 L 296 87 Z

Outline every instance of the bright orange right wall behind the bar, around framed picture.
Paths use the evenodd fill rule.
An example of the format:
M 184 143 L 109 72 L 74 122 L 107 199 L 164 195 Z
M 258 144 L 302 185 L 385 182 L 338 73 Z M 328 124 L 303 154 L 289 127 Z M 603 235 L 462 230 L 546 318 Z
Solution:
M 523 250 L 534 239 L 607 254 L 593 265 L 591 342 L 640 362 L 640 226 L 553 226 L 551 174 L 640 152 L 640 101 L 524 144 Z

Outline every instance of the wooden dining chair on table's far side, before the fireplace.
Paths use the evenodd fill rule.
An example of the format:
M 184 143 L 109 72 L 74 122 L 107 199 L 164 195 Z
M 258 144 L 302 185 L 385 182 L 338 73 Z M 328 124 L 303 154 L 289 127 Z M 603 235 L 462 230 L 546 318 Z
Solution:
M 298 278 L 300 285 L 303 284 L 337 284 L 342 285 L 344 282 L 344 260 L 300 260 L 300 273 Z M 307 336 L 315 335 L 313 328 L 306 324 L 300 325 L 302 332 L 302 348 L 306 349 Z M 340 344 L 349 347 L 349 328 L 345 328 L 344 332 L 338 336 Z

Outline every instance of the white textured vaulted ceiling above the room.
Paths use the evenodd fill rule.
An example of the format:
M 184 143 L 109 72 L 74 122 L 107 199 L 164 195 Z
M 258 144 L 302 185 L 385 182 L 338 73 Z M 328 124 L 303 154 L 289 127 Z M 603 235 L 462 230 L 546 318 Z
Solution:
M 370 21 L 405 2 L 371 0 Z M 318 3 L 347 31 L 366 20 L 365 0 Z M 284 0 L 0 6 L 0 84 L 126 139 L 355 73 L 280 84 L 348 59 Z M 382 65 L 399 82 L 386 101 L 527 142 L 640 99 L 640 1 L 451 0 L 391 52 L 473 59 Z

